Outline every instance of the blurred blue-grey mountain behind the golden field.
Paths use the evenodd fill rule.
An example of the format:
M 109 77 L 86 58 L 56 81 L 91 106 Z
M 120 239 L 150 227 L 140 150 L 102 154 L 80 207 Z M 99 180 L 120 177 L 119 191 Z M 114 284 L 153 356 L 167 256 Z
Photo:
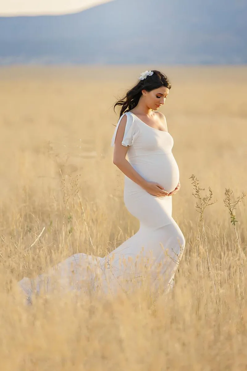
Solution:
M 0 63 L 244 64 L 246 0 L 114 0 L 0 17 Z

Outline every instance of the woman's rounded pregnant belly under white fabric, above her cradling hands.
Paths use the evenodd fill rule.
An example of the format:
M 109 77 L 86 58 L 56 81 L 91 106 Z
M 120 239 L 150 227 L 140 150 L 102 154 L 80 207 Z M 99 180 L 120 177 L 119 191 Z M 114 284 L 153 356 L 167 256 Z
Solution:
M 157 182 L 167 192 L 174 191 L 179 181 L 179 169 L 172 153 L 146 155 L 144 158 L 135 158 L 130 164 L 147 181 Z M 130 178 L 126 177 L 125 187 L 127 189 L 140 188 Z

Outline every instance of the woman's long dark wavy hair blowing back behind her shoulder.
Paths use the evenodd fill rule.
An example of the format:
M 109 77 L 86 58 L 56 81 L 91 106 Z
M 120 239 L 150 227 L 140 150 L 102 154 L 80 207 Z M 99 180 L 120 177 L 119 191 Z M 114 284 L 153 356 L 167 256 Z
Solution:
M 114 104 L 114 112 L 116 106 L 121 106 L 121 111 L 119 118 L 125 113 L 133 109 L 137 106 L 139 99 L 142 95 L 142 90 L 145 89 L 146 91 L 150 92 L 151 90 L 158 89 L 161 86 L 165 86 L 168 89 L 171 89 L 171 83 L 168 80 L 167 76 L 164 73 L 157 71 L 153 71 L 152 76 L 147 76 L 144 80 L 138 80 L 135 86 L 131 88 L 126 95 L 119 99 Z

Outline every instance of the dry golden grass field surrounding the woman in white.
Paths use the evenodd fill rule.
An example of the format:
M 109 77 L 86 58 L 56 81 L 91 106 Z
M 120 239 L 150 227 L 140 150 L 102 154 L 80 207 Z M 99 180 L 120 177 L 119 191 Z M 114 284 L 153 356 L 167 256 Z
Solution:
M 173 291 L 26 306 L 18 280 L 76 252 L 104 256 L 138 230 L 112 162 L 113 104 L 152 68 L 172 83 L 161 111 L 180 169 L 173 217 L 186 238 Z M 247 67 L 12 66 L 0 82 L 0 369 L 246 370 L 247 197 L 235 228 L 223 199 L 227 188 L 231 201 L 247 191 Z M 192 174 L 202 201 L 208 187 L 216 201 L 204 230 Z

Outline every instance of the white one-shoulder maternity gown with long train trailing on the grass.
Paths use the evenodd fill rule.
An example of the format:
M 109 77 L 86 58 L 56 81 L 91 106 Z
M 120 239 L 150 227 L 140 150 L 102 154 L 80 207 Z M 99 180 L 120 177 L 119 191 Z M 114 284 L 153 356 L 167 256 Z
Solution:
M 128 146 L 127 157 L 133 168 L 147 181 L 173 191 L 179 181 L 179 170 L 172 154 L 173 138 L 166 131 L 150 127 L 132 112 L 124 113 L 114 131 L 114 146 L 121 118 L 127 123 L 122 145 Z M 34 279 L 23 278 L 19 286 L 31 300 L 34 293 L 59 290 L 93 290 L 129 292 L 148 278 L 152 287 L 162 282 L 164 292 L 172 286 L 173 277 L 184 252 L 183 233 L 172 217 L 172 196 L 156 197 L 147 193 L 125 175 L 124 203 L 140 221 L 136 234 L 124 241 L 106 257 L 78 253 Z

